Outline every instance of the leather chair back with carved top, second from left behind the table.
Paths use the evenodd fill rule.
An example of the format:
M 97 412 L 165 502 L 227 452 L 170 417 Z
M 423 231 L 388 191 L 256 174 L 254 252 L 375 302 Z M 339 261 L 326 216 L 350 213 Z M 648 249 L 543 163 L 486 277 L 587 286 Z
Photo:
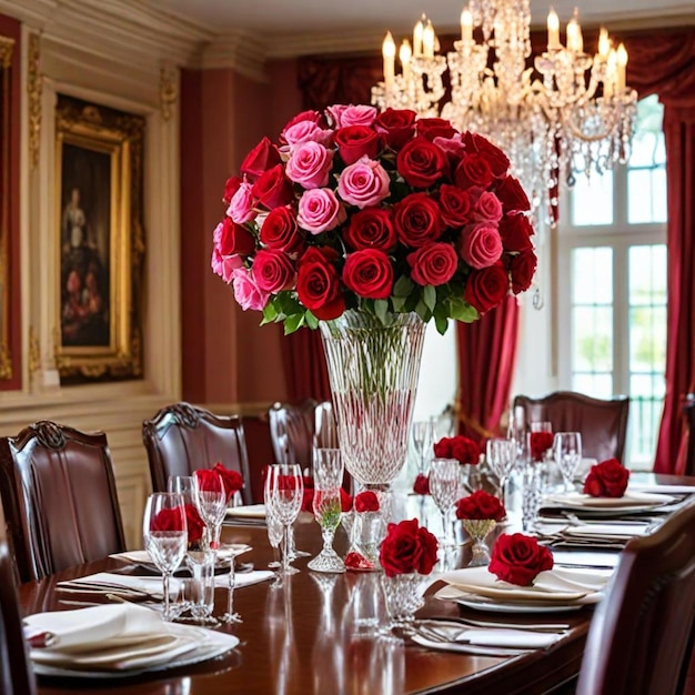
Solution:
M 191 475 L 221 463 L 241 473 L 243 504 L 251 504 L 249 454 L 239 415 L 216 415 L 190 403 L 175 403 L 142 423 L 154 492 L 167 492 L 170 475 Z

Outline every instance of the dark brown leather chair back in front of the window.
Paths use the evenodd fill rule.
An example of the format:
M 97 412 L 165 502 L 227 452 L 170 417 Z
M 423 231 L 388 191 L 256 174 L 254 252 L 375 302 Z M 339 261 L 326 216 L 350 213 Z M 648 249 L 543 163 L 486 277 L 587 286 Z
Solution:
M 526 424 L 548 421 L 554 432 L 581 432 L 585 457 L 623 461 L 629 413 L 627 396 L 602 400 L 574 391 L 556 391 L 538 399 L 517 395 L 514 407 L 517 406 L 524 409 Z

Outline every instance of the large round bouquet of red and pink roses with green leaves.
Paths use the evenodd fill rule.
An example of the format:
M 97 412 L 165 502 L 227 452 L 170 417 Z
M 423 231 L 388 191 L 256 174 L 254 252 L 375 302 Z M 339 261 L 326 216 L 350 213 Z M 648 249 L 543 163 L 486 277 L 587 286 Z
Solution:
M 474 321 L 526 290 L 528 199 L 485 138 L 409 110 L 304 111 L 225 185 L 212 268 L 286 333 L 346 310 Z

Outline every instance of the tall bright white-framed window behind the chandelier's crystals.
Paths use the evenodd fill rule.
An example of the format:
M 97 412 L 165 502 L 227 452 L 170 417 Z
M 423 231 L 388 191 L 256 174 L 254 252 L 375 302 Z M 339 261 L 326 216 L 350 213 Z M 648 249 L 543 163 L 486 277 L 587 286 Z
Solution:
M 666 152 L 663 108 L 637 107 L 627 165 L 578 177 L 558 234 L 560 385 L 631 396 L 625 463 L 651 467 L 666 360 Z M 562 220 L 567 222 L 563 223 Z

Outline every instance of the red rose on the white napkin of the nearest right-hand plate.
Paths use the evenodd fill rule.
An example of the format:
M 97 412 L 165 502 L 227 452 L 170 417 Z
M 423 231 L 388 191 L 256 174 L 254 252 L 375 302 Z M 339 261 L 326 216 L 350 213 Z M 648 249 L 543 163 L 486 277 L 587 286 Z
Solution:
M 492 548 L 488 572 L 498 580 L 530 586 L 540 572 L 553 568 L 553 554 L 536 538 L 523 533 L 503 533 Z

